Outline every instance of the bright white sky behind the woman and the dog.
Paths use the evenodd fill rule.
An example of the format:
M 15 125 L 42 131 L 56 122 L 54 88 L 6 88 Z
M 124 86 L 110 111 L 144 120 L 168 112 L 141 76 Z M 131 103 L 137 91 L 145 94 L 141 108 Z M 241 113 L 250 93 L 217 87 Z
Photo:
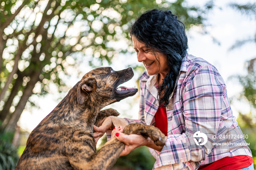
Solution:
M 206 0 L 193 1 L 188 0 L 188 4 L 202 5 Z M 238 95 L 242 86 L 237 81 L 230 80 L 230 76 L 245 75 L 245 63 L 250 59 L 256 57 L 256 43 L 248 43 L 240 48 L 229 50 L 236 40 L 242 40 L 249 36 L 254 36 L 256 32 L 255 16 L 248 17 L 241 15 L 240 12 L 227 7 L 227 4 L 231 2 L 241 3 L 236 0 L 215 0 L 215 7 L 207 15 L 207 26 L 204 29 L 208 34 L 201 34 L 201 27 L 192 27 L 188 32 L 188 53 L 201 57 L 208 62 L 212 63 L 222 75 L 227 85 L 227 94 L 229 97 Z M 254 3 L 256 0 L 244 0 L 243 3 Z M 215 38 L 220 42 L 220 45 L 214 43 Z M 114 59 L 112 68 L 114 70 L 125 69 L 127 63 L 135 63 L 137 61 L 136 53 L 131 56 L 121 54 L 118 58 Z M 125 64 L 124 64 L 125 63 Z M 106 66 L 106 65 L 104 65 Z M 88 72 L 90 70 L 84 70 Z M 124 84 L 127 87 L 133 87 L 136 85 L 136 80 L 140 75 L 135 73 L 135 76 Z M 75 78 L 71 81 L 70 86 L 74 86 L 77 81 L 82 77 Z M 116 109 L 121 113 L 120 117 L 128 117 L 132 119 L 138 119 L 139 103 L 133 103 L 130 101 L 137 101 L 138 93 L 135 96 L 126 98 L 118 103 L 109 105 L 106 108 Z M 31 132 L 40 123 L 45 116 L 47 116 L 60 102 L 60 97 L 64 97 L 63 94 L 48 94 L 45 97 L 37 98 L 40 108 L 34 108 L 31 110 L 24 110 L 20 120 L 19 126 L 26 131 Z M 121 106 L 121 107 L 120 107 Z M 248 113 L 248 104 L 242 102 L 235 102 L 231 106 L 234 116 L 238 115 L 238 112 Z

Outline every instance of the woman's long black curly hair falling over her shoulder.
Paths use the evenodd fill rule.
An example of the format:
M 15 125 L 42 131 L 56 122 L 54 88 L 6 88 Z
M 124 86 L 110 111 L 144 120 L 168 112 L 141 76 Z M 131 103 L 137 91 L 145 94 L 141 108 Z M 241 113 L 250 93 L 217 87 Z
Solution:
M 170 71 L 159 85 L 158 96 L 161 96 L 162 92 L 164 95 L 158 100 L 160 105 L 167 106 L 180 71 L 182 58 L 187 54 L 188 38 L 184 24 L 171 11 L 152 9 L 135 20 L 129 34 L 144 43 L 147 49 L 166 55 Z

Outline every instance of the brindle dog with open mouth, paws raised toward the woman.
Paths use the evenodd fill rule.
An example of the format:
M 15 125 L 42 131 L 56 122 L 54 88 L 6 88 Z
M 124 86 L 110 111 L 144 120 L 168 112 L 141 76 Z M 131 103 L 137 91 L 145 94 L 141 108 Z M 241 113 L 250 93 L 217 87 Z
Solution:
M 117 86 L 133 77 L 131 68 L 115 72 L 101 67 L 85 74 L 31 132 L 25 151 L 16 169 L 109 169 L 116 162 L 125 144 L 116 138 L 96 151 L 93 125 L 109 115 L 113 109 L 100 111 L 106 105 L 133 96 L 138 89 Z M 121 89 L 121 90 L 120 90 Z M 165 135 L 153 126 L 130 124 L 125 134 L 150 137 L 156 145 L 165 144 Z

